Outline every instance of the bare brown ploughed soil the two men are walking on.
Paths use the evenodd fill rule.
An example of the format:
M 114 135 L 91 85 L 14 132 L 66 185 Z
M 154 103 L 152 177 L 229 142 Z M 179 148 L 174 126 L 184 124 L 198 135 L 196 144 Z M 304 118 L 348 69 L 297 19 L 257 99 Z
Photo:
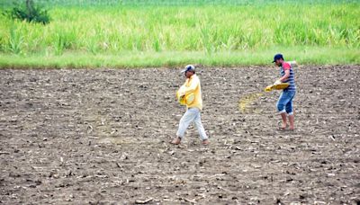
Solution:
M 179 69 L 0 70 L 0 203 L 359 204 L 360 66 L 295 68 L 278 131 L 275 67 L 199 69 L 204 147 L 175 137 Z

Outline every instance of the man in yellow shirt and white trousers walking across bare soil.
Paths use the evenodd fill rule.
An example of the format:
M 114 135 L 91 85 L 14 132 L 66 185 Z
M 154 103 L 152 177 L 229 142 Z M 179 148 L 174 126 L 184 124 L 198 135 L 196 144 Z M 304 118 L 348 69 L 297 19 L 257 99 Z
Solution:
M 189 127 L 190 123 L 194 122 L 195 127 L 199 131 L 200 138 L 202 138 L 202 144 L 208 145 L 209 139 L 205 133 L 205 129 L 202 126 L 201 111 L 202 111 L 202 87 L 200 85 L 200 79 L 195 74 L 195 67 L 188 65 L 182 71 L 186 76 L 184 85 L 179 90 L 180 96 L 186 96 L 188 94 L 194 94 L 193 102 L 186 104 L 186 112 L 179 123 L 179 129 L 171 143 L 178 145 L 181 139 L 184 138 L 185 130 Z

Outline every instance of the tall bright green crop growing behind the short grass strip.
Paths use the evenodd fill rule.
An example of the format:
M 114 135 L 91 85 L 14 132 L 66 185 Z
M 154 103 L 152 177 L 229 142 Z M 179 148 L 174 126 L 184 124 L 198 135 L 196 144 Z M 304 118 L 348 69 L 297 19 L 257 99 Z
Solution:
M 153 53 L 155 57 L 282 51 L 272 48 L 360 49 L 360 3 L 356 1 L 151 0 L 148 6 L 140 0 L 105 1 L 109 6 L 94 0 L 84 7 L 69 5 L 68 0 L 55 2 L 61 6 L 49 10 L 52 22 L 45 26 L 0 16 L 0 53 L 24 57 Z M 360 61 L 348 59 L 347 63 Z

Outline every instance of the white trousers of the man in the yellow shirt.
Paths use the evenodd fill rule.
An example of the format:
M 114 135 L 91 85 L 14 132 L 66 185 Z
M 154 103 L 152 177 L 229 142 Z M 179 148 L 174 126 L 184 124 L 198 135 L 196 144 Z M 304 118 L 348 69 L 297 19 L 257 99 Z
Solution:
M 198 108 L 189 108 L 183 115 L 179 123 L 179 129 L 177 129 L 176 136 L 184 138 L 185 131 L 189 127 L 190 123 L 194 122 L 196 129 L 199 131 L 200 138 L 202 140 L 207 139 L 205 129 L 202 126 L 202 118 L 200 110 Z

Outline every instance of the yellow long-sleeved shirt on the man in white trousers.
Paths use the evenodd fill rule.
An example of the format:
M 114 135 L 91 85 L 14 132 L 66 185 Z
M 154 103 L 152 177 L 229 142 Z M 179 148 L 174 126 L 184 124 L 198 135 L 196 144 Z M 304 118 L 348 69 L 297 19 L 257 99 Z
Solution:
M 183 94 L 195 95 L 193 103 L 186 105 L 187 108 L 198 108 L 202 111 L 202 86 L 200 85 L 200 79 L 195 74 L 190 78 L 186 78 L 184 85 L 182 86 Z

